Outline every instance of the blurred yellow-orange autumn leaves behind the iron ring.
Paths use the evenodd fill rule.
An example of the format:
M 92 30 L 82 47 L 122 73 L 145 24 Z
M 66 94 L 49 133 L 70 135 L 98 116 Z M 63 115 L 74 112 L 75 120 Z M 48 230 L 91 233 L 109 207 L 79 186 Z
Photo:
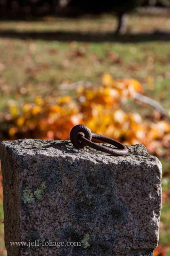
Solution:
M 94 133 L 125 144 L 150 146 L 170 134 L 170 124 L 163 120 L 146 122 L 138 113 L 121 108 L 136 93 L 143 92 L 136 79 L 115 80 L 110 74 L 104 74 L 101 86 L 78 86 L 76 97 L 38 96 L 34 103 L 25 102 L 21 110 L 10 105 L 13 124 L 9 135 L 10 138 L 68 139 L 71 128 L 82 123 Z

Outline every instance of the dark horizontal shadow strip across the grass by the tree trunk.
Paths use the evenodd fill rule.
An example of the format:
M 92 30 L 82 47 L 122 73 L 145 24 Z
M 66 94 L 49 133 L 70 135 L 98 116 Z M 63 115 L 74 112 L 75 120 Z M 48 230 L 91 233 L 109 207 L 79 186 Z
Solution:
M 153 33 L 136 33 L 118 36 L 113 33 L 92 33 L 76 31 L 52 31 L 52 32 L 18 32 L 16 30 L 1 30 L 0 38 L 9 39 L 40 39 L 45 41 L 57 40 L 61 42 L 79 41 L 79 42 L 147 42 L 147 41 L 170 41 L 170 33 L 163 31 L 154 31 Z

